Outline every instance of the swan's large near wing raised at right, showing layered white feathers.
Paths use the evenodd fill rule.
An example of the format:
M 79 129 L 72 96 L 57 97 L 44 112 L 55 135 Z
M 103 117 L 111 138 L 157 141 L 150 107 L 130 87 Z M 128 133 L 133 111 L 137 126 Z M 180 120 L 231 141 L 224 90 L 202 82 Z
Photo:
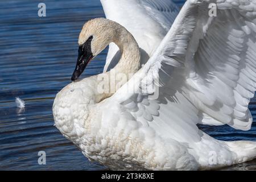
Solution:
M 210 3 L 217 5 L 216 17 L 208 14 Z M 255 61 L 254 1 L 187 1 L 154 55 L 111 100 L 162 137 L 179 141 L 200 139 L 197 123 L 248 130 Z M 159 97 L 141 92 L 158 79 Z

